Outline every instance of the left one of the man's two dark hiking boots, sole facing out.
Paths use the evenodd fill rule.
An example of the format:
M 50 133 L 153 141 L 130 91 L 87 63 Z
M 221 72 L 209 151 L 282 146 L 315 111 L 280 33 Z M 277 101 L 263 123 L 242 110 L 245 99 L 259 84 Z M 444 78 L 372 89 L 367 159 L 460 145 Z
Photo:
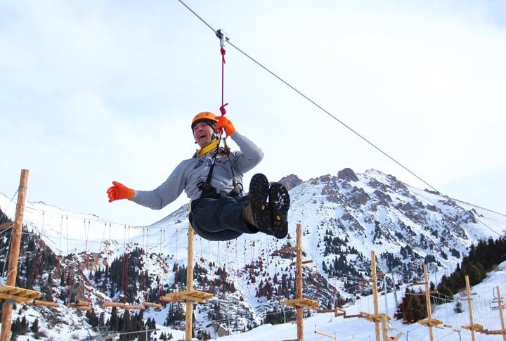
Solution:
M 248 221 L 253 218 L 254 225 L 261 232 L 271 233 L 271 212 L 268 209 L 267 198 L 269 195 L 268 180 L 264 174 L 254 174 L 249 183 L 249 202 L 242 210 L 242 215 Z M 249 212 L 251 215 L 249 216 Z M 249 217 L 248 217 L 249 216 Z

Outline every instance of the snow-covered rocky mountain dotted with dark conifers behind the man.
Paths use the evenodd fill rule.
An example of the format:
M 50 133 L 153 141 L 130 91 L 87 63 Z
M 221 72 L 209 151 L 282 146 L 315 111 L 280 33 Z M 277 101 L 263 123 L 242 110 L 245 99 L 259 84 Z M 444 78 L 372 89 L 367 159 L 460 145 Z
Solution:
M 385 278 L 391 290 L 398 283 L 420 280 L 423 264 L 429 266 L 431 281 L 437 281 L 460 264 L 470 245 L 498 238 L 506 230 L 503 214 L 413 188 L 372 169 L 363 174 L 343 169 L 308 181 L 290 175 L 280 181 L 292 198 L 287 238 L 275 240 L 258 233 L 209 242 L 195 237 L 194 288 L 214 294 L 196 306 L 195 335 L 219 335 L 219 326 L 239 333 L 262 323 L 290 320 L 294 312 L 280 302 L 295 295 L 294 254 L 280 250 L 295 247 L 297 223 L 303 231 L 304 259 L 313 260 L 304 265 L 304 297 L 317 300 L 323 309 L 351 306 L 370 295 L 364 280 L 371 274 L 371 251 L 377 256 L 378 271 L 389 274 Z M 15 202 L 0 195 L 0 210 L 13 219 Z M 72 309 L 64 306 L 67 302 L 85 298 L 93 314 L 105 321 L 112 309 L 103 307 L 104 301 L 157 302 L 160 293 L 185 288 L 187 216 L 185 205 L 155 224 L 124 226 L 93 214 L 27 202 L 27 238 L 31 236 L 39 250 L 47 247 L 56 262 L 44 270 L 37 247 L 29 249 L 25 243 L 20 264 L 27 267 L 28 259 L 41 259 L 37 278 L 25 282 L 41 292 L 43 283 L 49 283 L 45 299 L 61 303 L 52 310 L 31 307 L 32 317 L 27 319 L 33 323 L 37 316 L 48 334 L 58 330 L 59 335 L 83 337 L 82 329 L 94 324 L 90 316 L 75 318 L 81 312 L 68 314 Z M 7 233 L 0 233 L 7 245 Z M 0 252 L 2 268 L 6 250 Z M 15 314 L 25 312 L 18 309 Z M 183 314 L 183 304 L 167 304 L 160 311 L 146 309 L 143 319 L 171 330 L 183 325 Z

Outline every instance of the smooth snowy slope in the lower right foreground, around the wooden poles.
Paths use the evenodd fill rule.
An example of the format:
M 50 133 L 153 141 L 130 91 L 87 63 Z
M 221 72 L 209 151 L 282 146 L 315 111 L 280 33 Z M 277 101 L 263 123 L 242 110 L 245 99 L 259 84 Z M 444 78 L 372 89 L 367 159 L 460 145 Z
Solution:
M 474 315 L 474 323 L 478 323 L 488 330 L 500 330 L 500 316 L 497 303 L 494 299 L 497 297 L 496 287 L 499 286 L 502 297 L 506 297 L 506 262 L 500 264 L 495 271 L 491 272 L 483 283 L 475 285 L 471 292 L 472 295 L 472 311 Z M 422 288 L 420 286 L 420 288 Z M 398 302 L 401 302 L 401 295 L 406 287 L 396 292 Z M 417 290 L 417 288 L 415 288 Z M 423 290 L 423 288 L 422 288 Z M 464 292 L 465 294 L 465 292 Z M 460 300 L 461 294 L 455 295 L 455 300 Z M 503 300 L 504 302 L 504 300 Z M 394 293 L 390 292 L 385 300 L 381 295 L 378 300 L 379 311 L 384 313 L 387 311 L 388 316 L 394 316 Z M 469 307 L 466 300 L 462 300 L 463 312 L 455 313 L 455 302 L 446 304 L 433 305 L 432 319 L 438 319 L 443 322 L 443 328 L 432 328 L 434 340 L 472 340 L 472 334 L 469 330 L 462 328 L 469 322 Z M 346 308 L 347 315 L 358 314 L 360 311 L 373 314 L 374 302 L 372 296 L 363 297 L 357 300 L 355 304 Z M 335 317 L 333 313 L 315 314 L 304 319 L 304 340 L 332 340 L 331 337 L 320 335 L 325 333 L 334 340 L 339 341 L 370 341 L 375 340 L 375 323 L 366 319 L 351 318 L 344 319 L 342 316 Z M 399 340 L 421 341 L 429 340 L 429 328 L 422 326 L 420 323 L 403 324 L 401 320 L 389 321 L 388 335 L 394 337 L 402 333 Z M 502 340 L 502 335 L 485 335 L 483 333 L 475 333 L 476 340 Z M 297 325 L 295 323 L 285 323 L 281 325 L 264 325 L 255 328 L 247 333 L 240 335 L 230 335 L 220 337 L 219 340 L 242 340 L 242 341 L 259 341 L 259 340 L 294 340 L 297 339 Z

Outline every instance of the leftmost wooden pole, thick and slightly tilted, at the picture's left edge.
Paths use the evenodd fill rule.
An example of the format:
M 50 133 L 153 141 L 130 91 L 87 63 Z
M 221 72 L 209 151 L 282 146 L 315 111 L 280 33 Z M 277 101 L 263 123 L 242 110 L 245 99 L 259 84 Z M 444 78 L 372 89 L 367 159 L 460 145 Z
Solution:
M 16 277 L 18 276 L 18 261 L 21 245 L 21 232 L 23 213 L 25 212 L 25 200 L 28 183 L 28 169 L 21 169 L 20 186 L 18 190 L 18 204 L 16 206 L 14 226 L 11 237 L 11 252 L 9 254 L 8 274 L 6 285 L 15 286 Z M 2 309 L 2 326 L 0 333 L 1 341 L 8 341 L 11 337 L 13 303 L 4 301 Z

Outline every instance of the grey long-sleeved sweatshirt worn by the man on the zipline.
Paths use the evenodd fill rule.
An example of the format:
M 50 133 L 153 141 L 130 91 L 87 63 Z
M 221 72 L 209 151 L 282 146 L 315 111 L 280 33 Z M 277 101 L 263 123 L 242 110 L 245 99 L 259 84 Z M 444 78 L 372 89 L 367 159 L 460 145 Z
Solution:
M 264 153 L 252 141 L 235 131 L 231 139 L 240 150 L 230 154 L 235 181 L 242 184 L 242 175 L 259 164 Z M 135 191 L 131 200 L 139 205 L 160 210 L 176 200 L 183 190 L 191 200 L 200 198 L 197 184 L 206 181 L 212 165 L 214 150 L 200 157 L 183 160 L 169 175 L 167 180 L 153 191 Z M 216 156 L 211 185 L 218 193 L 228 193 L 233 189 L 231 166 L 225 153 Z

